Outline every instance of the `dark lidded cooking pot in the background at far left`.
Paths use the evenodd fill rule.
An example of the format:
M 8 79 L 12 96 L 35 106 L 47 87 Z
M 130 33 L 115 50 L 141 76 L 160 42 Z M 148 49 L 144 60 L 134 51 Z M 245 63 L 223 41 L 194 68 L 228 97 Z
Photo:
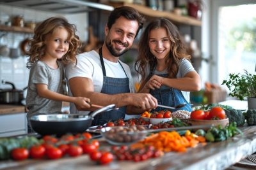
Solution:
M 24 99 L 24 89 L 17 90 L 14 83 L 10 81 L 2 80 L 3 84 L 12 85 L 12 89 L 0 89 L 0 103 L 2 104 L 21 104 L 21 101 Z

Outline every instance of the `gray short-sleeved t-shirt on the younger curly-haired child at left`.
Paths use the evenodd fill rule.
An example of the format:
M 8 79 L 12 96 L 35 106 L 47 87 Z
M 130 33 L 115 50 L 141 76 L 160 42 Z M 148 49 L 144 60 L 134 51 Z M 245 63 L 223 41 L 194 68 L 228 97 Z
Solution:
M 54 101 L 38 96 L 36 84 L 42 83 L 48 86 L 52 92 L 64 93 L 65 86 L 64 67 L 60 61 L 58 69 L 52 69 L 42 61 L 36 61 L 30 69 L 28 92 L 26 96 L 26 107 L 28 108 L 27 117 L 36 114 L 50 114 L 61 112 L 61 101 Z

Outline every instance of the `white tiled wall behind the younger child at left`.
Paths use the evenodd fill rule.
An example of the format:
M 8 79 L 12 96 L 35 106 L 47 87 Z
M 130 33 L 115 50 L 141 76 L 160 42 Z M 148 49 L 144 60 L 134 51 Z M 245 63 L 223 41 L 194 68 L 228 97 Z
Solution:
M 49 17 L 63 16 L 70 23 L 76 25 L 77 34 L 81 41 L 88 39 L 88 13 L 61 15 L 60 13 L 49 13 L 0 4 L 0 24 L 8 24 L 11 18 L 17 15 L 22 16 L 25 22 L 40 22 Z M 32 36 L 33 34 L 29 33 L 0 31 L 0 45 L 7 45 L 8 48 L 19 48 L 22 40 Z M 28 57 L 22 54 L 15 59 L 0 55 L 0 89 L 10 88 L 10 85 L 3 85 L 1 80 L 12 81 L 17 89 L 22 89 L 28 85 L 29 69 L 26 67 L 27 60 Z

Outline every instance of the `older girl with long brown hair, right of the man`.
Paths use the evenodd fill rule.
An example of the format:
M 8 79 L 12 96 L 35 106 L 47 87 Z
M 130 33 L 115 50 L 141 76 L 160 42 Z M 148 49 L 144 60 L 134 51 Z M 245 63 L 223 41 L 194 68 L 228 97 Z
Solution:
M 139 92 L 152 94 L 158 104 L 166 106 L 186 103 L 179 110 L 191 111 L 189 92 L 200 90 L 201 80 L 172 22 L 157 18 L 148 24 L 140 39 L 135 69 L 141 76 Z M 163 108 L 152 111 L 160 110 Z

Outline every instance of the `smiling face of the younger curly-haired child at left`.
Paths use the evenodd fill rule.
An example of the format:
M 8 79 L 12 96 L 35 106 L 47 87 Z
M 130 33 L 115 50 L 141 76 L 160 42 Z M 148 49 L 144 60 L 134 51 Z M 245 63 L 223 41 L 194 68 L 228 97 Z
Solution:
M 58 27 L 45 39 L 45 55 L 48 59 L 61 59 L 69 48 L 69 33 L 63 27 Z

